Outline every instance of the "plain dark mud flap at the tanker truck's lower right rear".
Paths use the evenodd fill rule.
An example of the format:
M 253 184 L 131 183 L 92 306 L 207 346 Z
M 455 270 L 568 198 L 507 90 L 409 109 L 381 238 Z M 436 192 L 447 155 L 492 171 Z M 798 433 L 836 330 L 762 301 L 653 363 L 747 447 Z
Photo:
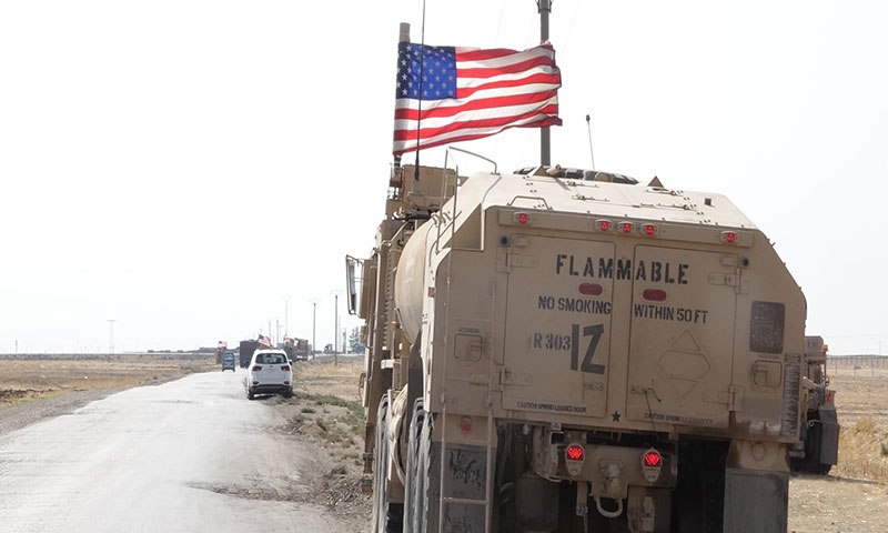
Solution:
M 789 474 L 725 469 L 724 533 L 786 533 Z

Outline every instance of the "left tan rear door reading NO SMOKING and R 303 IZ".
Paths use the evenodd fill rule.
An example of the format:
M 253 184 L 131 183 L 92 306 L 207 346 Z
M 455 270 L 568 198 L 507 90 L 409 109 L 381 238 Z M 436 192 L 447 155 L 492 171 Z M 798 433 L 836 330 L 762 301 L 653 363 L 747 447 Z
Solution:
M 614 245 L 513 235 L 503 408 L 603 416 Z

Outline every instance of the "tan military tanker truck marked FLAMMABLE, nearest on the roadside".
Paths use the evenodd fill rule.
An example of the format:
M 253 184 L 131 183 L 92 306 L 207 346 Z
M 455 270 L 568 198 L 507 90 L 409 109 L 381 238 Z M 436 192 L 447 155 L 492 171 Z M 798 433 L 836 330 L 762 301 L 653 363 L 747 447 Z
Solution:
M 385 214 L 346 258 L 372 531 L 786 531 L 806 302 L 725 197 L 405 165 Z

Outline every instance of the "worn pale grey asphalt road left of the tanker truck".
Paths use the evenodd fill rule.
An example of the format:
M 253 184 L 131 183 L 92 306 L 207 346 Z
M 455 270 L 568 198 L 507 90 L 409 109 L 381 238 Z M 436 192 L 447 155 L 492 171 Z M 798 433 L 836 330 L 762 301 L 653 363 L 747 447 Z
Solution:
M 246 400 L 243 375 L 132 389 L 0 436 L 0 531 L 353 531 L 304 503 L 324 457 Z

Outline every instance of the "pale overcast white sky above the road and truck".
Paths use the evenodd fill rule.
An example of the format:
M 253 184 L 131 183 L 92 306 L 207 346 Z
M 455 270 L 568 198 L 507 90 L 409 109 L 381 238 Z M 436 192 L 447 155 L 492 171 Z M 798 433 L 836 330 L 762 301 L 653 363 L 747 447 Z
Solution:
M 529 48 L 533 0 L 427 0 L 428 44 Z M 0 352 L 333 341 L 382 218 L 418 1 L 0 2 Z M 831 352 L 888 352 L 888 4 L 555 0 L 553 162 L 726 194 Z M 538 131 L 463 143 L 501 169 Z M 422 153 L 443 164 L 443 150 Z M 461 160 L 461 173 L 482 170 Z M 342 302 L 340 312 L 344 315 Z M 346 325 L 356 324 L 345 320 Z

